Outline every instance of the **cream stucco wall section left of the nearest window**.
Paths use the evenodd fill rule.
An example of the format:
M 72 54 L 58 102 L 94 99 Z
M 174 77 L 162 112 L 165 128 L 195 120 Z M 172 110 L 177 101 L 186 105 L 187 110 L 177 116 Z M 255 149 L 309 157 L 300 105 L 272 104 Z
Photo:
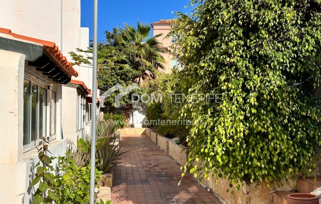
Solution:
M 22 155 L 24 60 L 22 54 L 0 49 L 0 83 L 3 87 L 0 101 L 0 165 L 16 163 Z

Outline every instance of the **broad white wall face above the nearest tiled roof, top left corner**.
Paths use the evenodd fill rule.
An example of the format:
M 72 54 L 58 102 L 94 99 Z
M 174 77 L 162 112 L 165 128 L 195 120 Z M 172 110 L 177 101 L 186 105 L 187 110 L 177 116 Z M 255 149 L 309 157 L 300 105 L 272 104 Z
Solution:
M 56 42 L 61 47 L 61 1 L 1 1 L 0 28 L 11 29 L 19 35 Z

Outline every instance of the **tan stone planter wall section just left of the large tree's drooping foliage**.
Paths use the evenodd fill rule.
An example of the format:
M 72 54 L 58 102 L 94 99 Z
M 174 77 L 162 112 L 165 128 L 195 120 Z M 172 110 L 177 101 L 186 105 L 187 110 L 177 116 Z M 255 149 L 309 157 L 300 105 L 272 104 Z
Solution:
M 188 148 L 183 145 L 176 144 L 178 138 L 169 140 L 168 154 L 181 166 L 186 164 L 188 158 Z

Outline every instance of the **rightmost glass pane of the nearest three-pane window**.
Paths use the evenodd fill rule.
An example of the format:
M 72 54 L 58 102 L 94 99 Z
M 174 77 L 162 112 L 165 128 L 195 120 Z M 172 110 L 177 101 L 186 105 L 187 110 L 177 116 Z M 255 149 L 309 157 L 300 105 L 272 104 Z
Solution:
M 46 137 L 46 89 L 39 89 L 39 138 Z

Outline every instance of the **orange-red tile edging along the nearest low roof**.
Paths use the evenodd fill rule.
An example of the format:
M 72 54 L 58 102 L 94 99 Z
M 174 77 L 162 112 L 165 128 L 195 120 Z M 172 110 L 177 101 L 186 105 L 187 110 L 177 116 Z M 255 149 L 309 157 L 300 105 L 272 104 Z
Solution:
M 40 40 L 37 38 L 31 38 L 23 35 L 18 35 L 15 33 L 11 33 L 11 30 L 0 28 L 0 33 L 8 34 L 14 38 L 20 39 L 20 40 L 26 40 L 30 42 L 35 42 L 38 44 L 42 44 L 44 49 L 47 51 L 48 54 L 50 54 L 52 60 L 60 65 L 61 69 L 66 72 L 69 75 L 72 75 L 74 77 L 78 77 L 78 72 L 74 70 L 74 68 L 71 66 L 71 64 L 67 61 L 66 57 L 64 57 L 59 50 L 59 47 L 56 46 L 56 43 L 46 41 L 46 40 Z

